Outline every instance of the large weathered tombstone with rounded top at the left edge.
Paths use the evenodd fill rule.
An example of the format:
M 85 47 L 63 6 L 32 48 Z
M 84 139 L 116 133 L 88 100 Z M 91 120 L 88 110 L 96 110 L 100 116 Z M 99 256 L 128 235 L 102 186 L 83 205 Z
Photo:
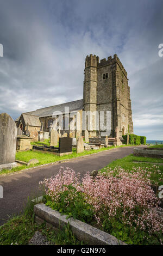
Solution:
M 0 114 L 0 169 L 1 164 L 15 162 L 16 137 L 15 121 L 6 113 Z

